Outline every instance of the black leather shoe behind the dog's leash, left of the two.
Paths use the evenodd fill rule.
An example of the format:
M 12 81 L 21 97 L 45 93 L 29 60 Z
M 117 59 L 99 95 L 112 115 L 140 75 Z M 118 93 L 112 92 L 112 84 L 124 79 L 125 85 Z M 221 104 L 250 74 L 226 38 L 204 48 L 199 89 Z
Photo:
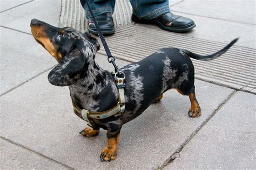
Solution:
M 103 34 L 114 33 L 115 29 L 111 12 L 102 13 L 101 15 L 96 16 L 95 19 L 97 20 L 99 28 Z M 88 18 L 87 30 L 93 34 L 98 34 L 98 31 L 95 27 L 95 24 L 92 21 L 92 18 Z

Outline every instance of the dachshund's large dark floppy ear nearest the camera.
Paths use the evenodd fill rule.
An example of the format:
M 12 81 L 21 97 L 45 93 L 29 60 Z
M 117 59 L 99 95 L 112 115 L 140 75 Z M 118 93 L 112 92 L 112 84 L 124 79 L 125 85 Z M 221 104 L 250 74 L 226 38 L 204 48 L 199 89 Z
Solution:
M 85 56 L 75 48 L 66 54 L 60 63 L 48 74 L 48 80 L 55 86 L 70 86 L 82 74 Z

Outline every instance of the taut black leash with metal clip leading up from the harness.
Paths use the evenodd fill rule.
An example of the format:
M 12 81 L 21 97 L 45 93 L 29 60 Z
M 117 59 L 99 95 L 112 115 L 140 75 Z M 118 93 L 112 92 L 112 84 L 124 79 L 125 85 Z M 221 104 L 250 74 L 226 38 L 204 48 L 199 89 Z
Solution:
M 99 38 L 102 41 L 102 44 L 103 44 L 103 46 L 105 48 L 105 51 L 106 51 L 106 54 L 107 54 L 107 61 L 109 61 L 109 63 L 112 63 L 112 65 L 114 66 L 114 72 L 119 74 L 118 66 L 114 62 L 116 59 L 114 59 L 114 57 L 112 56 L 112 54 L 110 52 L 110 49 L 109 49 L 109 46 L 107 46 L 106 40 L 105 40 L 105 38 L 104 38 L 104 36 L 102 34 L 102 31 L 100 31 L 99 24 L 98 24 L 97 20 L 95 19 L 94 15 L 92 13 L 92 10 L 91 10 L 90 4 L 89 4 L 89 0 L 86 0 L 85 2 L 86 2 L 86 5 L 87 5 L 87 8 L 89 9 L 89 11 L 91 13 L 91 17 L 92 17 L 93 23 L 95 23 L 96 29 L 98 31 Z

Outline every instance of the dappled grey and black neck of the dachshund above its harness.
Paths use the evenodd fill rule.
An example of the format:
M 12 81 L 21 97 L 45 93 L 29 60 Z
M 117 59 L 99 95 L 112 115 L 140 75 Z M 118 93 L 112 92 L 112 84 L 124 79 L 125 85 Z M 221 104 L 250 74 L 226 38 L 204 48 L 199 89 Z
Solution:
M 70 95 L 83 109 L 104 111 L 109 104 L 116 104 L 118 100 L 116 83 L 112 80 L 110 73 L 100 68 L 95 62 L 95 51 L 83 53 L 87 54 L 84 55 L 86 64 L 80 79 L 69 86 Z M 107 94 L 111 93 L 113 94 L 112 98 L 105 102 L 107 105 L 100 105 L 100 101 L 104 100 L 102 97 L 105 98 Z M 99 97 L 101 98 L 99 99 Z

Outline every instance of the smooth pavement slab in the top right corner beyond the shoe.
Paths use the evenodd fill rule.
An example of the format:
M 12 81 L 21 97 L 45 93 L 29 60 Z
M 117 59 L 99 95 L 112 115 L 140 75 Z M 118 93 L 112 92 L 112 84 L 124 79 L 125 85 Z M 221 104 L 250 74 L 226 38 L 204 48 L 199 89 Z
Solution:
M 183 1 L 171 7 L 172 11 L 188 13 L 207 18 L 215 18 L 241 24 L 255 25 L 255 1 Z M 225 15 L 224 15 L 225 13 Z

